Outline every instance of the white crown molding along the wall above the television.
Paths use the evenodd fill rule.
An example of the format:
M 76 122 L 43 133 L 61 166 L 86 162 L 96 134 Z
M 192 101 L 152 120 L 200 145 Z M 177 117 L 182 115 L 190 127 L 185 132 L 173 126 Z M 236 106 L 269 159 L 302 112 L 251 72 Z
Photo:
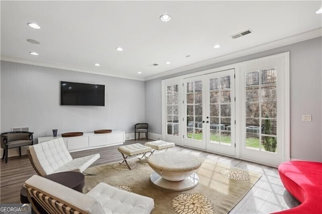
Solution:
M 28 65 L 37 65 L 37 66 L 43 66 L 43 67 L 49 67 L 49 68 L 56 68 L 56 69 L 77 71 L 77 72 L 83 72 L 83 73 L 98 74 L 98 75 L 103 75 L 103 76 L 112 76 L 112 77 L 118 77 L 118 78 L 124 78 L 124 79 L 133 79 L 133 80 L 144 81 L 144 78 L 135 78 L 135 77 L 122 76 L 122 75 L 100 73 L 100 72 L 93 71 L 93 70 L 90 70 L 90 69 L 70 67 L 70 66 L 61 65 L 61 64 L 55 64 L 55 63 L 39 62 L 39 61 L 21 59 L 21 58 L 10 57 L 10 56 L 1 55 L 1 60 L 2 61 L 22 63 L 22 64 L 28 64 Z

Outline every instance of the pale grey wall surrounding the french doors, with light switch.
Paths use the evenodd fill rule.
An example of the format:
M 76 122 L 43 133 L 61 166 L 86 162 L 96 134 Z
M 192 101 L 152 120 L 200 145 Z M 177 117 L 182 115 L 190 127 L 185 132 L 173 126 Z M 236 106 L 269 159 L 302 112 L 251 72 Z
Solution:
M 290 154 L 293 159 L 322 161 L 322 37 L 145 81 L 145 121 L 162 134 L 163 79 L 290 52 Z M 301 115 L 312 115 L 302 122 Z

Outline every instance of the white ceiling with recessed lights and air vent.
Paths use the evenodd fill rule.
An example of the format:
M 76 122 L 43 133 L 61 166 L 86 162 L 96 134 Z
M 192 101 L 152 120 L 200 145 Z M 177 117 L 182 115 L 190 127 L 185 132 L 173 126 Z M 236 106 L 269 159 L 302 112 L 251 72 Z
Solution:
M 1 1 L 1 56 L 144 79 L 321 28 L 322 15 L 315 14 L 321 6 L 321 1 Z M 165 13 L 169 22 L 159 20 Z M 230 38 L 247 29 L 253 33 Z M 116 51 L 118 46 L 124 51 Z M 149 66 L 153 63 L 159 65 Z

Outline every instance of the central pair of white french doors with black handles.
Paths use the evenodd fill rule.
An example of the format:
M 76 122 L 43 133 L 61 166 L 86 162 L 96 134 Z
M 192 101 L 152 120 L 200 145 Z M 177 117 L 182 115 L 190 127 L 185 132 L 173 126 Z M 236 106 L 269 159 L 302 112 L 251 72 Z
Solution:
M 234 69 L 186 78 L 183 86 L 183 145 L 234 156 Z

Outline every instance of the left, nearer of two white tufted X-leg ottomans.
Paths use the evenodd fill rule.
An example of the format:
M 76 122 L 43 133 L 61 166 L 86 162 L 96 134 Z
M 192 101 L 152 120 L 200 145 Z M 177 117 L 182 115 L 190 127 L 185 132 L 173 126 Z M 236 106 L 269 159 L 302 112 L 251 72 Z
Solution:
M 126 145 L 126 146 L 120 146 L 119 148 L 117 148 L 117 150 L 122 154 L 123 156 L 123 161 L 120 163 L 126 163 L 127 167 L 129 169 L 131 169 L 131 167 L 129 166 L 129 164 L 126 161 L 126 158 L 130 157 L 130 156 L 134 156 L 134 155 L 139 155 L 139 154 L 143 154 L 143 157 L 146 157 L 145 154 L 147 152 L 151 152 L 151 147 L 147 147 L 144 146 L 142 144 L 136 143 L 136 144 L 130 144 L 130 145 Z M 139 158 L 139 159 L 141 159 Z

